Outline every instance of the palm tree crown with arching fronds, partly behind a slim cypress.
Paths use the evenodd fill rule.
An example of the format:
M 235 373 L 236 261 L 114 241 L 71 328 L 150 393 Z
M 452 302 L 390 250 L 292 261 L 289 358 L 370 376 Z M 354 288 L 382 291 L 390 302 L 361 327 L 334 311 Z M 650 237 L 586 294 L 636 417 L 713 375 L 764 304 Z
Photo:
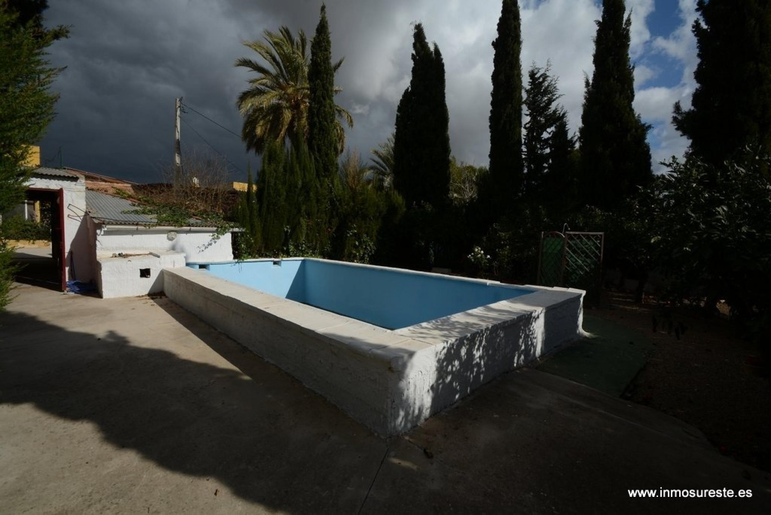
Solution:
M 308 39 L 305 32 L 298 36 L 286 26 L 278 32 L 266 30 L 264 42 L 259 40 L 244 41 L 244 46 L 258 53 L 264 63 L 241 57 L 235 66 L 257 73 L 249 80 L 249 89 L 238 96 L 237 106 L 244 117 L 241 139 L 247 150 L 258 154 L 264 151 L 267 141 L 289 139 L 294 146 L 308 137 Z M 337 72 L 342 66 L 340 59 L 333 69 Z M 341 87 L 335 87 L 340 93 Z M 338 133 L 342 154 L 345 148 L 345 129 L 342 121 L 353 127 L 353 117 L 347 110 L 335 105 L 338 120 L 335 130 Z M 342 121 L 341 121 L 342 120 Z

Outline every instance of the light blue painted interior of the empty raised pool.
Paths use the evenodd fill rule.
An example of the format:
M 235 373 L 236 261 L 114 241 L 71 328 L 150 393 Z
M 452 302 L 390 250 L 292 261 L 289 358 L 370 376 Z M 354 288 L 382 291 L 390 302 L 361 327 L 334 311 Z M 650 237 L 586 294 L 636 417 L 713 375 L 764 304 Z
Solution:
M 409 327 L 532 292 L 496 283 L 317 259 L 188 266 L 386 329 Z

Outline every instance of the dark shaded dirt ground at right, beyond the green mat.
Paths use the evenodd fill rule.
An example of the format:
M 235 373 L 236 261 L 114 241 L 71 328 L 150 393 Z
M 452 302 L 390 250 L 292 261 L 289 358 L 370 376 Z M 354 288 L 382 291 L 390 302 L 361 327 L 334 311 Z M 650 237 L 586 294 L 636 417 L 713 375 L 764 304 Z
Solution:
M 606 293 L 602 307 L 588 313 L 641 330 L 654 344 L 625 398 L 695 425 L 726 456 L 771 470 L 767 368 L 764 378 L 748 365 L 762 351 L 726 317 L 691 308 L 667 313 L 655 300 L 636 304 L 625 293 Z

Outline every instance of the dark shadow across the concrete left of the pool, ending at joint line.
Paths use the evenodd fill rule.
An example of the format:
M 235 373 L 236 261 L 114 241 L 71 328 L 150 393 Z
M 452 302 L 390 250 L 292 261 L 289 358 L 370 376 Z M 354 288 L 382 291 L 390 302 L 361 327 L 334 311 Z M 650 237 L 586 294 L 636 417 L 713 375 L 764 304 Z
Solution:
M 241 370 L 157 348 L 152 327 L 147 341 L 130 342 L 115 332 L 69 331 L 5 313 L 0 404 L 31 403 L 65 420 L 93 422 L 116 449 L 220 479 L 269 509 L 357 510 L 385 442 L 278 368 L 167 306 Z M 178 344 L 200 345 L 194 338 Z

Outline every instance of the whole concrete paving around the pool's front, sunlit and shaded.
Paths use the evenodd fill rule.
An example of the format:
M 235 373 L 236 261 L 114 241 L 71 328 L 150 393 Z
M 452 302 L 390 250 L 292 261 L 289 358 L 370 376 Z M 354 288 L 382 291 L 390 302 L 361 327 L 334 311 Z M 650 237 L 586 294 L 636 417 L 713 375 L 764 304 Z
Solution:
M 768 513 L 689 425 L 524 369 L 380 439 L 165 298 L 20 286 L 0 315 L 2 513 Z M 751 489 L 635 500 L 628 489 Z

